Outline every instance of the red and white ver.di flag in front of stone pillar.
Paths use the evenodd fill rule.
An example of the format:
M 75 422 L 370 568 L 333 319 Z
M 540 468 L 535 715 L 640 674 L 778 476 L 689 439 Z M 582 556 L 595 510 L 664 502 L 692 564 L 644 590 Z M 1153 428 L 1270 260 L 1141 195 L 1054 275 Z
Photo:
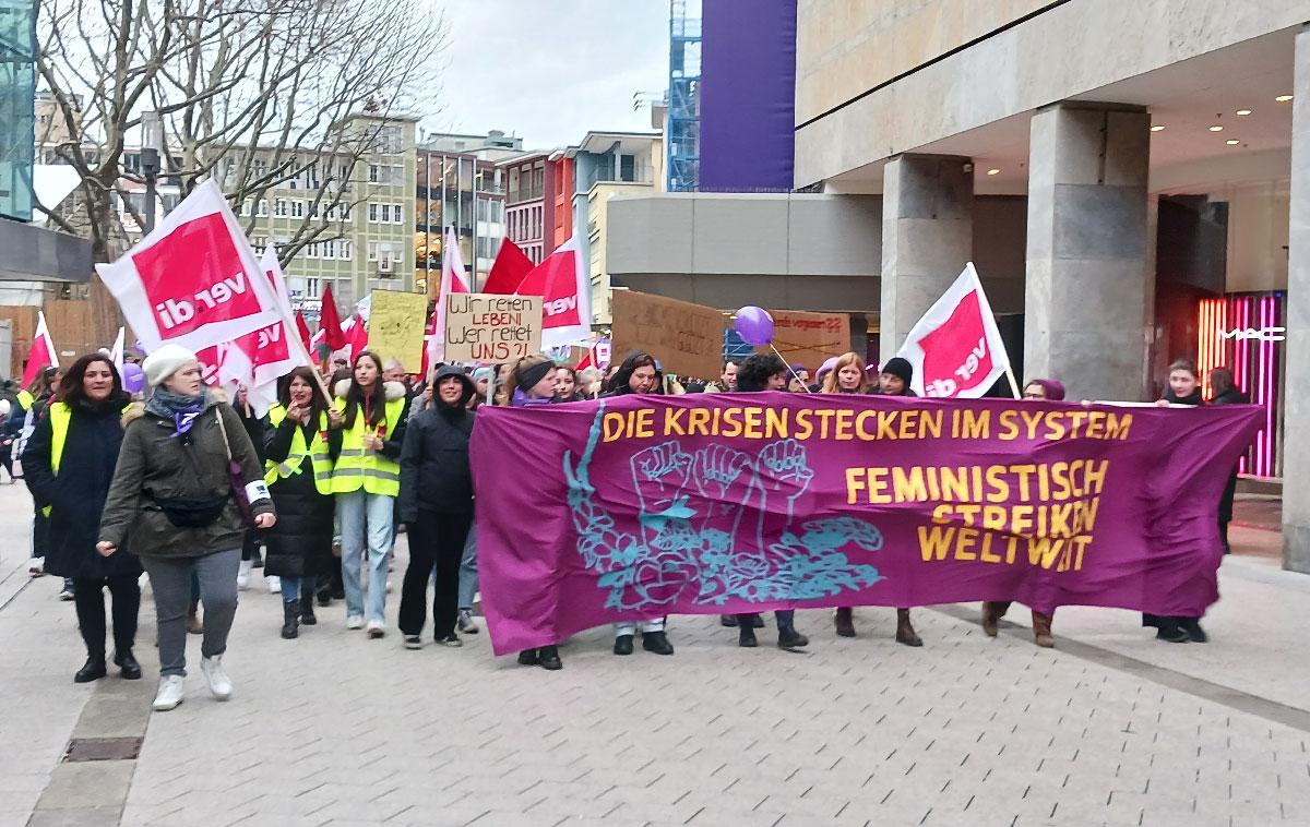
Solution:
M 977 399 L 1010 368 L 973 262 L 914 327 L 897 356 L 914 366 L 920 396 Z

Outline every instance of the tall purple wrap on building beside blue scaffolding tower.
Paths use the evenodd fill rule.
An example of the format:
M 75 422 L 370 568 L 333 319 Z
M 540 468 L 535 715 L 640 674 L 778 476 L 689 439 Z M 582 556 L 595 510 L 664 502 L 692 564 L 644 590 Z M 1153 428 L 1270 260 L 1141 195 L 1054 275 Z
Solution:
M 795 132 L 795 0 L 703 4 L 702 192 L 790 192 Z

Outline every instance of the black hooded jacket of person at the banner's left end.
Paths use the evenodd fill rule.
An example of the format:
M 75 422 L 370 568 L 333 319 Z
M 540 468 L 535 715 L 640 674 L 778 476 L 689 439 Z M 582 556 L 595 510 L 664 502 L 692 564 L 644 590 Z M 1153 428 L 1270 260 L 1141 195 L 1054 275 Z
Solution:
M 455 406 L 440 399 L 441 379 L 457 377 L 464 393 Z M 411 523 L 418 513 L 440 514 L 473 510 L 473 472 L 469 468 L 469 436 L 476 415 L 469 411 L 473 381 L 458 368 L 441 368 L 432 379 L 432 407 L 414 415 L 401 449 L 401 522 Z

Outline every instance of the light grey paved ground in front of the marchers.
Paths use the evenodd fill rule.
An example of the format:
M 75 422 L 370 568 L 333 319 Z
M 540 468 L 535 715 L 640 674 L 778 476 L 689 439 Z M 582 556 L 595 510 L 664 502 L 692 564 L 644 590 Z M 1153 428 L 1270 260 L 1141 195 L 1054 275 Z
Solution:
M 20 505 L 0 491 L 14 538 L 0 595 Z M 403 538 L 398 551 L 397 585 Z M 892 610 L 863 608 L 852 640 L 828 612 L 800 612 L 804 654 L 773 648 L 772 629 L 743 650 L 717 618 L 675 618 L 676 656 L 617 658 L 597 629 L 563 646 L 558 673 L 494 658 L 485 632 L 462 649 L 409 652 L 394 627 L 369 641 L 339 603 L 283 641 L 278 598 L 255 578 L 225 658 L 236 696 L 210 699 L 195 669 L 186 703 L 152 714 L 140 758 L 121 762 L 135 767 L 84 781 L 106 797 L 127 784 L 122 811 L 80 820 L 34 809 L 88 700 L 121 679 L 73 686 L 72 608 L 47 577 L 0 610 L 0 826 L 1307 824 L 1310 699 L 1276 679 L 1305 660 L 1305 591 L 1250 565 L 1225 565 L 1225 594 L 1260 608 L 1221 602 L 1209 646 L 1155 644 L 1128 612 L 1061 610 L 1056 633 L 1078 652 L 1043 650 L 1017 627 L 986 639 L 955 616 L 976 607 L 959 607 L 916 610 L 925 646 L 908 649 Z M 1268 608 L 1302 619 L 1252 649 Z M 141 653 L 152 614 L 147 598 Z M 1115 667 L 1125 654 L 1179 686 Z M 1258 712 L 1290 709 L 1292 725 L 1189 691 L 1189 657 L 1238 665 L 1225 686 Z M 1224 683 L 1205 669 L 1193 679 Z M 151 677 L 134 688 L 148 705 Z

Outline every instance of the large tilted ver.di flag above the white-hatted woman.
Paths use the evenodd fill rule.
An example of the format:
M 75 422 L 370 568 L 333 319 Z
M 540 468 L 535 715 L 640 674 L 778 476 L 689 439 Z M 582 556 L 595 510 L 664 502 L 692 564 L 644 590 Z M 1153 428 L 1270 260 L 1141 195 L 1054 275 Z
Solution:
M 96 272 L 148 351 L 165 343 L 203 351 L 282 321 L 269 276 L 214 181 Z

